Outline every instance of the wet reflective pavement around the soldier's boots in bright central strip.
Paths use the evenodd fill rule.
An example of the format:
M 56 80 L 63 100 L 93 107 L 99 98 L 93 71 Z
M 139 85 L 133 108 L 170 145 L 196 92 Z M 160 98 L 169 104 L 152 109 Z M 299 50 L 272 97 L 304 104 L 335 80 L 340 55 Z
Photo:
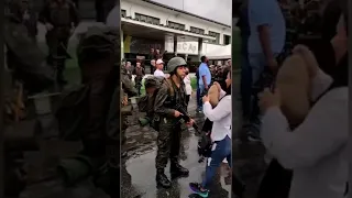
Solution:
M 188 112 L 196 120 L 198 125 L 202 125 L 205 120 L 202 113 L 196 113 L 196 100 L 195 96 L 189 102 Z M 199 163 L 199 156 L 197 153 L 198 136 L 194 129 L 189 129 L 189 132 L 183 133 L 183 146 L 180 151 L 180 164 L 189 169 L 189 176 L 187 178 L 178 178 L 173 180 L 173 187 L 170 189 L 158 189 L 155 183 L 155 156 L 156 145 L 155 140 L 157 132 L 150 128 L 140 128 L 136 125 L 136 117 L 130 118 L 130 128 L 127 131 L 128 142 L 124 150 L 128 151 L 128 157 L 125 162 L 127 172 L 124 174 L 131 175 L 132 187 L 129 179 L 122 179 L 122 197 L 130 197 L 131 191 L 135 191 L 143 198 L 184 198 L 195 197 L 190 195 L 188 187 L 189 183 L 201 182 L 206 163 Z M 169 177 L 168 168 L 165 168 L 166 175 Z M 223 164 L 219 168 L 218 175 L 213 179 L 211 186 L 210 198 L 224 198 L 231 197 L 231 180 L 229 182 L 228 164 Z M 129 178 L 123 176 L 122 178 Z M 131 189 L 133 188 L 133 189 Z M 134 197 L 134 196 L 132 196 Z M 197 196 L 196 196 L 197 197 Z

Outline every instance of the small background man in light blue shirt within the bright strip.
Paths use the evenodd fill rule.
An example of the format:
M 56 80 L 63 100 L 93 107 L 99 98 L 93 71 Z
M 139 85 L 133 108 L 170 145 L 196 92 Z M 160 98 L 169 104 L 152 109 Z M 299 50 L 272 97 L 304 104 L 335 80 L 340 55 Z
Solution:
M 210 82 L 211 82 L 211 73 L 208 67 L 208 57 L 207 56 L 201 56 L 200 58 L 201 64 L 199 65 L 198 73 L 199 73 L 199 92 L 200 95 L 204 95 L 205 91 L 209 89 Z M 201 111 L 201 102 L 200 106 L 198 103 L 198 111 Z

